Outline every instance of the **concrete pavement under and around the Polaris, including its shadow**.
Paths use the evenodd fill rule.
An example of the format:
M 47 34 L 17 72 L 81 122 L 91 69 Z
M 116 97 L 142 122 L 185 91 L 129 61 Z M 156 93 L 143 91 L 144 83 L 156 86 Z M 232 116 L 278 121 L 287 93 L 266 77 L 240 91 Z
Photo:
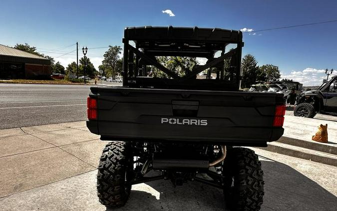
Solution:
M 106 142 L 84 121 L 0 130 L 0 210 L 106 210 L 96 167 Z M 337 167 L 254 148 L 265 171 L 262 210 L 335 210 Z M 132 187 L 117 210 L 224 210 L 222 190 L 159 180 Z

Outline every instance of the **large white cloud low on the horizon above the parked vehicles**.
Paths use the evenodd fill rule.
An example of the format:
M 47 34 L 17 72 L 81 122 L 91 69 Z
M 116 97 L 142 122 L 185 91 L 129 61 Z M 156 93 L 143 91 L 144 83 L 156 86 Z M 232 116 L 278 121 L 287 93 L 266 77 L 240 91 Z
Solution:
M 281 79 L 293 79 L 294 81 L 303 83 L 304 86 L 321 85 L 323 79 L 327 79 L 327 75 L 325 74 L 325 72 L 326 70 L 324 69 L 315 69 L 308 67 L 302 71 L 291 71 L 288 74 L 281 72 Z M 337 71 L 334 71 L 333 75 L 337 75 Z

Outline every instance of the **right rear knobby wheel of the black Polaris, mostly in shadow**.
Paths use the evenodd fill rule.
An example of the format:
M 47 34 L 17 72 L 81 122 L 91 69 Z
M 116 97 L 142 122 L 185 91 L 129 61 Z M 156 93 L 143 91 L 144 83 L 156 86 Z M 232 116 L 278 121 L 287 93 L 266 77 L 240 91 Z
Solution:
M 226 208 L 260 210 L 263 203 L 263 170 L 255 152 L 248 148 L 228 150 L 223 164 Z

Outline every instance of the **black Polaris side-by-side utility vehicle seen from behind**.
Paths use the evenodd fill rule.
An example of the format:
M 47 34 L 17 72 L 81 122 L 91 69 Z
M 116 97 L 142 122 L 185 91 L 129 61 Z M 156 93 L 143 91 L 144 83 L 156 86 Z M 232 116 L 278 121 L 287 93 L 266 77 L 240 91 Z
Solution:
M 242 32 L 128 27 L 123 43 L 123 86 L 91 87 L 88 97 L 87 127 L 111 141 L 98 166 L 100 202 L 123 206 L 132 184 L 168 179 L 222 188 L 230 210 L 259 210 L 261 162 L 253 150 L 238 146 L 278 140 L 285 105 L 283 94 L 240 90 Z M 207 62 L 169 69 L 158 56 Z M 179 64 L 178 57 L 170 58 Z M 164 76 L 150 77 L 151 71 Z M 203 71 L 207 77 L 200 79 Z

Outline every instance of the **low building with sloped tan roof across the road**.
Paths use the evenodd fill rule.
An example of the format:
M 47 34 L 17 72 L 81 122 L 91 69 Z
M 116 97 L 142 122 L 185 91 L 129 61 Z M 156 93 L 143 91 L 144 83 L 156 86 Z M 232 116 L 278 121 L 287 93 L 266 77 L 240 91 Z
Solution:
M 50 78 L 50 60 L 0 44 L 0 79 Z

